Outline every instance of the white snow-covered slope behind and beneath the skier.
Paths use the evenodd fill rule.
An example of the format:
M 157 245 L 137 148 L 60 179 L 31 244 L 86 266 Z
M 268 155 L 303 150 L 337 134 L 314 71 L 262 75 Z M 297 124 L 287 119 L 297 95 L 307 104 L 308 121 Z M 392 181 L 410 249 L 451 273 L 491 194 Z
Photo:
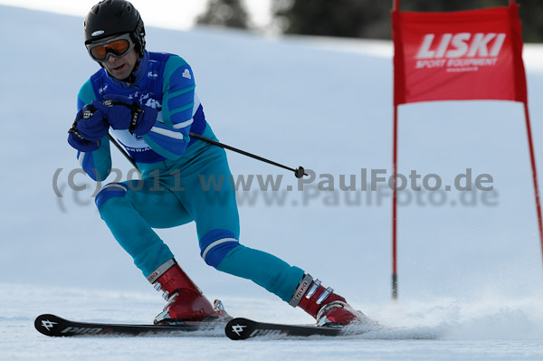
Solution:
M 77 91 L 97 69 L 81 27 L 81 18 L 0 6 L 0 360 L 543 359 L 543 272 L 524 114 L 521 104 L 499 101 L 400 108 L 400 173 L 437 174 L 451 185 L 471 168 L 474 177 L 491 175 L 495 192 L 453 191 L 439 205 L 427 192 L 402 198 L 397 303 L 390 300 L 386 187 L 327 193 L 316 192 L 315 182 L 298 192 L 291 174 L 229 153 L 234 175 L 283 176 L 280 192 L 242 192 L 244 244 L 310 271 L 386 326 L 430 328 L 443 332 L 442 339 L 232 342 L 37 333 L 33 319 L 41 313 L 143 323 L 163 306 L 100 220 L 95 185 L 71 174 L 78 163 L 66 130 Z M 359 184 L 361 168 L 390 176 L 390 43 L 148 28 L 148 49 L 179 53 L 192 64 L 207 119 L 225 143 L 331 175 L 336 189 L 340 175 L 357 176 Z M 541 170 L 542 48 L 529 45 L 525 55 Z M 117 153 L 114 166 L 128 175 Z M 86 189 L 75 191 L 73 184 Z M 288 185 L 294 191 L 284 192 Z M 265 195 L 286 198 L 270 204 Z M 223 299 L 233 316 L 310 323 L 300 309 L 251 282 L 206 266 L 193 224 L 159 234 L 208 297 Z

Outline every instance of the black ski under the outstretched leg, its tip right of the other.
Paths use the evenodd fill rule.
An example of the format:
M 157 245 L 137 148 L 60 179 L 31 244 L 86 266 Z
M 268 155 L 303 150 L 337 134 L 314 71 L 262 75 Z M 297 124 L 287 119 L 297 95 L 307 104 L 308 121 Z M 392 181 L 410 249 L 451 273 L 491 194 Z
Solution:
M 233 340 L 252 337 L 310 337 L 338 336 L 341 328 L 320 328 L 309 325 L 287 325 L 253 321 L 248 318 L 233 318 L 224 328 L 227 337 Z

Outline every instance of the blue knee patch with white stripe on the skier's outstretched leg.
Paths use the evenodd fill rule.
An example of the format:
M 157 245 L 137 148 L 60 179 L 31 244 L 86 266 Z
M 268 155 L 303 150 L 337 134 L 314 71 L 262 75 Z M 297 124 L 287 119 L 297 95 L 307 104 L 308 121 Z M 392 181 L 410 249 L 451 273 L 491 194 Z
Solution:
M 200 239 L 200 255 L 205 263 L 216 268 L 224 260 L 226 254 L 239 246 L 235 235 L 226 230 L 213 230 L 205 233 Z

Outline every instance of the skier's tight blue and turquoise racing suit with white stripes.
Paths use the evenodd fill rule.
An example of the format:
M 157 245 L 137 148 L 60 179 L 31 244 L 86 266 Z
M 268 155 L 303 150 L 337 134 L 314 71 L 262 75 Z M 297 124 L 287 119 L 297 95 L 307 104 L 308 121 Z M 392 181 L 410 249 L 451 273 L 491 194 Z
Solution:
M 147 134 L 114 130 L 141 170 L 141 179 L 106 185 L 96 196 L 100 217 L 119 244 L 148 277 L 174 258 L 153 231 L 195 221 L 200 255 L 219 271 L 252 280 L 289 301 L 304 271 L 239 242 L 240 225 L 231 175 L 224 149 L 190 138 L 189 132 L 217 140 L 195 93 L 191 67 L 181 57 L 145 52 L 126 83 L 103 68 L 86 81 L 78 95 L 78 109 L 107 94 L 119 94 L 158 110 Z M 92 152 L 78 152 L 83 170 L 104 180 L 111 169 L 110 140 L 105 137 Z M 224 180 L 221 182 L 221 180 Z

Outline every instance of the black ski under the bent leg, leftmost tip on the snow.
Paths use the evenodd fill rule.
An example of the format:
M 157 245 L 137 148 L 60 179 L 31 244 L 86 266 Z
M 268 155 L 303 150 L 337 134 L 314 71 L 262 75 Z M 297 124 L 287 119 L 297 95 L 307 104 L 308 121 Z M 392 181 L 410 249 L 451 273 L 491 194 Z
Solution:
M 34 327 L 45 336 L 51 337 L 95 337 L 95 336 L 205 336 L 223 337 L 224 322 L 184 322 L 175 326 L 131 325 L 114 323 L 79 322 L 44 314 L 34 321 Z

